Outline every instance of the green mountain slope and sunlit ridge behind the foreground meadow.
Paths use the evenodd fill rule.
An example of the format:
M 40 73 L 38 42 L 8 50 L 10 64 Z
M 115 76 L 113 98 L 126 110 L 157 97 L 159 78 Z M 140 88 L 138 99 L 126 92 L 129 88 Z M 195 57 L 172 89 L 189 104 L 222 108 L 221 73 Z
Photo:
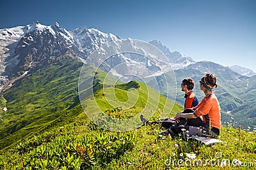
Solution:
M 1 110 L 1 149 L 11 148 L 24 139 L 47 131 L 49 127 L 68 124 L 79 115 L 79 112 L 72 111 L 72 108 L 80 102 L 77 88 L 81 66 L 82 63 L 77 60 L 66 60 L 44 69 L 31 71 L 28 76 L 15 81 L 10 89 L 6 89 L 3 93 L 4 98 L 1 98 L 1 107 L 8 108 L 8 111 Z M 125 111 L 125 106 L 127 109 L 132 106 L 133 115 L 140 113 L 143 108 L 148 108 L 147 111 L 150 110 L 150 114 L 153 114 L 156 109 L 164 109 L 165 105 L 167 107 L 164 109 L 164 114 L 168 115 L 173 108 L 174 103 L 142 83 L 131 81 L 118 85 L 121 82 L 109 76 L 107 76 L 108 80 L 104 81 L 106 73 L 103 71 L 97 70 L 94 75 L 95 68 L 86 66 L 85 69 L 83 81 L 88 82 L 93 78 L 93 92 L 97 102 L 90 103 L 92 100 L 87 99 L 88 107 L 83 107 L 86 113 L 94 114 L 92 110 L 98 106 L 101 113 L 118 106 L 123 106 L 122 110 Z M 105 91 L 102 89 L 104 85 L 107 86 L 104 88 Z M 85 87 L 81 92 L 84 99 L 90 96 L 89 91 L 90 86 Z M 102 94 L 105 96 L 102 97 Z M 160 100 L 156 96 L 159 96 Z M 128 105 L 125 105 L 125 102 Z M 182 107 L 175 104 L 174 109 L 177 112 L 182 110 Z M 87 115 L 84 114 L 82 117 L 86 118 Z

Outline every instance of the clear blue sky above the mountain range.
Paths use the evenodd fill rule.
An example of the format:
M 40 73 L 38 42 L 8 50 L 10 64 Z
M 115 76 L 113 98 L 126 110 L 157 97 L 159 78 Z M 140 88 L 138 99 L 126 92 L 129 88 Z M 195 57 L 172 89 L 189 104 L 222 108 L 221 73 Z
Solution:
M 0 29 L 58 22 L 86 25 L 121 38 L 159 39 L 196 61 L 238 64 L 256 72 L 256 1 L 0 1 Z

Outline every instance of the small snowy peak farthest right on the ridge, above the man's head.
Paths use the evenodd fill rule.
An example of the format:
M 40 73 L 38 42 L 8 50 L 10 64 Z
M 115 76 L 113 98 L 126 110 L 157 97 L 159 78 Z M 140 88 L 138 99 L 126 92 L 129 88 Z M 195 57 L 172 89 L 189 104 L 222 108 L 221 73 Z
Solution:
M 180 52 L 177 52 L 177 51 L 171 52 L 169 48 L 163 45 L 163 43 L 161 43 L 161 41 L 159 40 L 153 40 L 153 41 L 150 41 L 149 43 L 156 46 L 159 50 L 161 50 L 161 52 L 164 53 L 164 55 L 168 58 L 168 60 L 172 64 L 191 64 L 195 62 L 195 60 L 193 60 L 191 57 L 184 56 Z

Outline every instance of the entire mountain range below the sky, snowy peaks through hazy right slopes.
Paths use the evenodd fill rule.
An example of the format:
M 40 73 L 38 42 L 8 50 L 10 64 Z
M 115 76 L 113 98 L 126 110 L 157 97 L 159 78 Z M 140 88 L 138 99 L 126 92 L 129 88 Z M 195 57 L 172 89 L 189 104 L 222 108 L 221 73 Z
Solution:
M 145 76 L 144 72 L 151 76 L 157 76 L 160 82 L 159 92 L 166 94 L 166 79 L 161 78 L 162 73 L 175 73 L 176 78 L 170 80 L 173 92 L 178 91 L 177 102 L 182 104 L 182 93 L 179 92 L 179 82 L 182 78 L 191 77 L 196 82 L 207 72 L 216 74 L 220 86 L 217 93 L 222 105 L 222 111 L 231 113 L 227 117 L 239 114 L 246 117 L 248 111 L 244 107 L 249 107 L 253 99 L 248 99 L 248 95 L 254 94 L 255 76 L 248 77 L 232 71 L 228 67 L 221 66 L 213 62 L 195 62 L 191 57 L 186 57 L 179 52 L 171 52 L 160 41 L 150 41 L 148 45 L 157 47 L 166 57 L 166 60 L 159 59 L 157 55 L 143 51 L 142 48 L 134 48 L 132 39 L 123 41 L 133 53 L 118 53 L 122 51 L 121 38 L 113 34 L 106 34 L 97 29 L 87 29 L 80 27 L 74 31 L 66 31 L 58 23 L 45 26 L 35 22 L 24 27 L 0 30 L 0 73 L 1 86 L 7 81 L 13 80 L 24 73 L 33 74 L 44 67 L 60 64 L 63 60 L 72 58 L 85 62 L 88 57 L 93 57 L 93 52 L 99 50 L 106 53 L 107 43 L 113 43 L 113 52 L 117 53 L 99 65 L 99 68 L 106 73 L 120 78 L 124 74 Z M 121 41 L 122 42 L 122 41 Z M 107 46 L 108 47 L 108 46 Z M 170 63 L 172 62 L 172 67 Z M 122 81 L 136 80 L 135 76 L 127 76 Z M 148 78 L 148 83 L 152 81 Z M 177 85 L 178 84 L 178 85 Z M 152 87 L 158 88 L 151 84 Z M 164 89 L 164 90 L 163 90 Z M 200 96 L 198 89 L 196 92 Z M 168 94 L 167 94 L 168 95 Z M 201 96 L 200 96 L 201 97 Z M 174 100 L 174 99 L 173 99 Z M 235 112 L 234 112 L 235 111 Z M 234 115 L 233 115 L 234 114 Z M 255 115 L 250 115 L 255 118 Z M 246 120 L 246 119 L 244 119 Z M 252 119 L 253 120 L 253 119 Z

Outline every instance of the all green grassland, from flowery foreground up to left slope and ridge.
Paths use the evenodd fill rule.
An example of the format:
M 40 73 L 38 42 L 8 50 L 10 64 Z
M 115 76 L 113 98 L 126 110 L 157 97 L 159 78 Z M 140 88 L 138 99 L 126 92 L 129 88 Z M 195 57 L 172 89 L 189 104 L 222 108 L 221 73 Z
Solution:
M 183 107 L 138 81 L 104 81 L 106 73 L 94 74 L 92 66 L 83 81 L 93 89 L 80 91 L 80 103 L 81 66 L 71 60 L 46 67 L 3 93 L 8 111 L 0 112 L 0 169 L 256 169 L 256 127 L 235 129 L 230 119 L 218 136 L 222 142 L 212 145 L 185 134 L 159 135 L 161 124 L 125 129 L 121 120 L 141 113 L 159 120 Z M 101 115 L 109 129 L 127 131 L 102 128 Z

